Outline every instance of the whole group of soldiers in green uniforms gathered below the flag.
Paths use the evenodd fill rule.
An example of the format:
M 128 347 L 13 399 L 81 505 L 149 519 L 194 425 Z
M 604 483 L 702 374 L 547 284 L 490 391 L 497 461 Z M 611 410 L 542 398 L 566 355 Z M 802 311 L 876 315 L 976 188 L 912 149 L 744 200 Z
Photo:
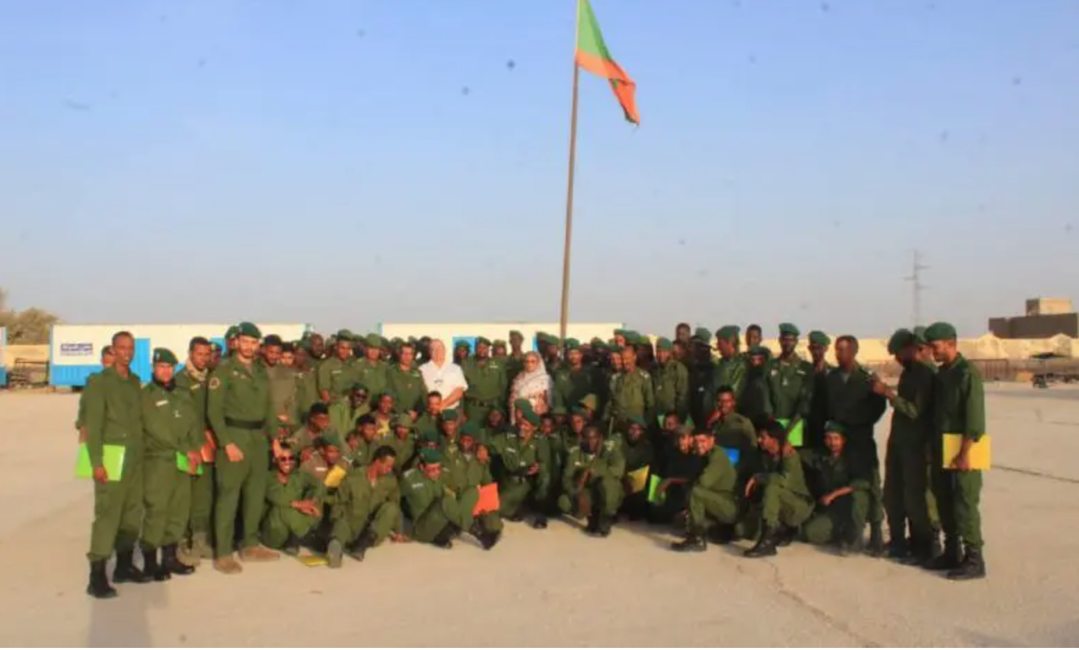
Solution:
M 802 358 L 791 323 L 778 351 L 759 326 L 745 351 L 737 326 L 715 332 L 714 349 L 709 330 L 685 323 L 673 338 L 613 334 L 540 333 L 535 351 L 516 331 L 508 345 L 457 344 L 467 387 L 451 397 L 424 383 L 441 346 L 428 338 L 284 342 L 244 322 L 224 350 L 193 338 L 182 364 L 154 349 L 144 386 L 134 338 L 119 332 L 76 424 L 95 481 L 87 593 L 117 595 L 113 553 L 112 583 L 189 575 L 202 559 L 236 573 L 304 548 L 336 568 L 386 540 L 449 549 L 468 535 L 491 549 L 503 520 L 542 529 L 550 516 L 601 538 L 623 518 L 674 525 L 675 551 L 745 538 L 746 555 L 763 557 L 801 539 L 985 576 L 970 451 L 984 391 L 952 326 L 891 336 L 896 387 L 858 362 L 853 336 L 835 341 L 835 367 L 823 332 Z M 514 397 L 530 355 L 551 376 L 540 401 Z M 874 426 L 889 402 L 882 483 Z M 945 434 L 961 435 L 952 457 Z

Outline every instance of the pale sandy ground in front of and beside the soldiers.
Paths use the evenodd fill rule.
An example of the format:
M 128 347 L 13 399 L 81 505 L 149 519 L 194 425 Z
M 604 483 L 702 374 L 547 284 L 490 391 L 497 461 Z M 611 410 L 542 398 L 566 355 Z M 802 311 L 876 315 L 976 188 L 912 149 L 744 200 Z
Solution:
M 983 492 L 989 578 L 952 583 L 795 544 L 675 555 L 667 531 L 606 540 L 510 524 L 483 552 L 416 544 L 83 590 L 91 486 L 72 478 L 77 398 L 0 395 L 5 646 L 1076 646 L 1079 390 L 992 387 Z M 879 427 L 882 439 L 887 430 Z M 205 566 L 205 565 L 204 565 Z

